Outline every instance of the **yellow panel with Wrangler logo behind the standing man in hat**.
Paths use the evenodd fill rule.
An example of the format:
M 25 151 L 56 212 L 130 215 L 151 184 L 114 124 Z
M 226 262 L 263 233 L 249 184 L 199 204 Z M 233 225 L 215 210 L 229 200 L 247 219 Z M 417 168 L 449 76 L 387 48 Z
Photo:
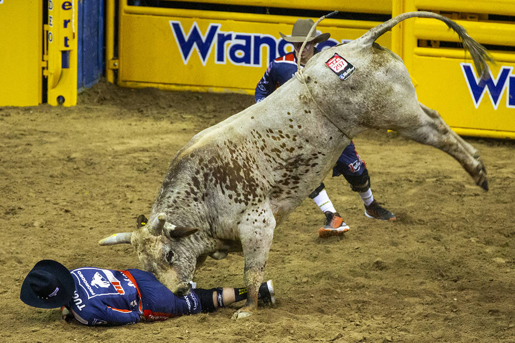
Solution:
M 122 86 L 253 94 L 271 60 L 293 48 L 279 32 L 290 34 L 296 20 L 292 16 L 136 7 L 122 2 L 118 59 L 110 65 L 117 68 L 117 83 Z M 317 29 L 330 32 L 331 39 L 318 47 L 355 39 L 377 24 L 326 19 Z M 390 41 L 388 32 L 377 42 L 390 47 Z

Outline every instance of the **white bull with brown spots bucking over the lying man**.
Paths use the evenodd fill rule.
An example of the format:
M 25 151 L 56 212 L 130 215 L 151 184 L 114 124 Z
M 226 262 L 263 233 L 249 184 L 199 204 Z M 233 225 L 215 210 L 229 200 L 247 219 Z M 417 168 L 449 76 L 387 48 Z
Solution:
M 488 190 L 478 152 L 418 102 L 402 60 L 374 43 L 409 17 L 443 21 L 459 35 L 478 73 L 488 72 L 484 47 L 446 17 L 393 17 L 348 44 L 317 53 L 299 77 L 264 101 L 195 135 L 171 161 L 148 224 L 99 243 L 132 244 L 143 268 L 175 293 L 187 292 L 207 256 L 220 259 L 243 250 L 249 297 L 237 312 L 241 317 L 257 309 L 274 228 L 322 182 L 358 133 L 389 129 L 441 149 Z M 343 74 L 331 69 L 326 62 L 335 54 L 355 67 L 352 74 L 349 68 Z

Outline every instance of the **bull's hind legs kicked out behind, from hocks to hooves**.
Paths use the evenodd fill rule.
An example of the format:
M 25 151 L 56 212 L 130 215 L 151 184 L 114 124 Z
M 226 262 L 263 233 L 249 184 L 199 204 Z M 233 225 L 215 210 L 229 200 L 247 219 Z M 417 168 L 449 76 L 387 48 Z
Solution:
M 478 186 L 488 190 L 485 165 L 477 150 L 452 131 L 437 111 L 421 103 L 419 105 L 418 124 L 404 127 L 399 130 L 399 133 L 447 152 L 458 160 Z

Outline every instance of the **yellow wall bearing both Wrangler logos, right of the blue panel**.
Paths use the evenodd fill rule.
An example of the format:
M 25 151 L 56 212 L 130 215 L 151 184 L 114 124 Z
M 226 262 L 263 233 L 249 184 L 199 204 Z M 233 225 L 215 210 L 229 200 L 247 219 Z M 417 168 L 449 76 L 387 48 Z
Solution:
M 462 135 L 515 138 L 512 120 L 515 0 L 393 0 L 353 4 L 306 1 L 295 4 L 292 10 L 300 12 L 287 15 L 281 11 L 276 12 L 282 15 L 250 13 L 256 6 L 276 9 L 292 6 L 282 0 L 183 3 L 216 4 L 222 10 L 118 3 L 118 54 L 114 56 L 114 47 L 107 49 L 113 53 L 107 56 L 109 65 L 114 66 L 107 71 L 108 80 L 126 87 L 253 94 L 268 63 L 291 51 L 291 45 L 280 38 L 279 32 L 290 34 L 297 17 L 310 16 L 317 20 L 320 15 L 339 10 L 357 18 L 323 20 L 318 31 L 331 33 L 331 41 L 318 46 L 323 49 L 355 39 L 380 23 L 363 20 L 367 17 L 377 19 L 385 18 L 385 14 L 389 17 L 427 10 L 451 17 L 490 50 L 497 64 L 491 66 L 489 80 L 484 83 L 478 80 L 458 36 L 434 19 L 409 19 L 384 34 L 378 43 L 404 59 L 420 101 L 439 111 L 453 130 Z M 243 10 L 229 11 L 230 7 L 223 7 L 229 4 L 243 6 Z M 302 15 L 302 10 L 307 9 L 312 15 Z

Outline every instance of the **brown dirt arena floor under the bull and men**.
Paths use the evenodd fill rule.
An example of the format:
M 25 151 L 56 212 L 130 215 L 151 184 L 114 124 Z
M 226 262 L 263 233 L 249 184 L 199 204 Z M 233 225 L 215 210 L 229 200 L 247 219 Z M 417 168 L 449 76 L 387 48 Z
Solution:
M 275 308 L 89 328 L 19 299 L 41 259 L 68 268 L 139 267 L 130 245 L 97 241 L 148 216 L 170 159 L 195 133 L 253 103 L 247 95 L 124 89 L 100 82 L 75 107 L 0 107 L 0 341 L 515 342 L 515 142 L 467 138 L 490 191 L 449 155 L 380 131 L 355 138 L 377 200 L 365 217 L 342 177 L 325 179 L 351 230 L 321 240 L 310 199 L 274 234 L 265 278 Z M 243 284 L 243 256 L 208 259 L 204 288 Z

